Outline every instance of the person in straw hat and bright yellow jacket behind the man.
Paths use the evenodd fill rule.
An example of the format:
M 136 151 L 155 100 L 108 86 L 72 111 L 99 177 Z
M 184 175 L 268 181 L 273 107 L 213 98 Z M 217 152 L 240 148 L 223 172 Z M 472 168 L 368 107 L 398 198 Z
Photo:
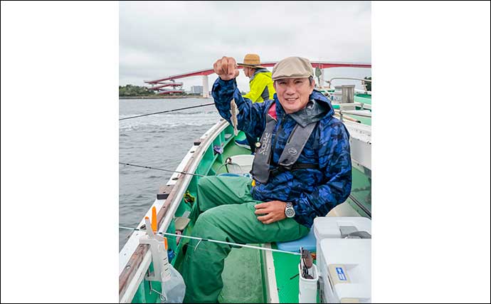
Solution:
M 252 103 L 263 103 L 265 100 L 273 99 L 273 95 L 275 94 L 271 72 L 260 65 L 260 62 L 259 55 L 247 54 L 244 57 L 243 63 L 237 63 L 237 65 L 243 66 L 244 74 L 250 78 L 249 93 L 243 95 L 243 98 L 248 98 Z M 257 141 L 257 137 L 245 133 L 245 140 L 236 140 L 236 145 L 250 149 L 254 153 L 255 143 Z

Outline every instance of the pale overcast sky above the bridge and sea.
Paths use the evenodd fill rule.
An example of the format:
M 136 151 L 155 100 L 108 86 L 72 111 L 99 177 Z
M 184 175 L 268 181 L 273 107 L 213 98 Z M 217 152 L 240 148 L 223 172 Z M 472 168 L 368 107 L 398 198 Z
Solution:
M 302 56 L 371 63 L 371 3 L 120 2 L 120 85 L 212 68 L 222 56 L 241 62 L 246 53 L 258 53 L 263 62 Z M 370 75 L 369 69 L 349 70 Z M 208 76 L 210 87 L 214 80 L 216 74 Z M 177 81 L 189 90 L 202 85 L 202 76 Z M 242 71 L 238 86 L 248 91 Z

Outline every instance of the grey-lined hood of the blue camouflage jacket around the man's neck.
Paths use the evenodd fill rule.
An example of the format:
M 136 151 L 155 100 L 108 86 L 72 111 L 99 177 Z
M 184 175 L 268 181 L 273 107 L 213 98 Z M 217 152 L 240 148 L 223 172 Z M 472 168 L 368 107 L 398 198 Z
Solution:
M 276 94 L 275 98 L 278 99 Z M 331 102 L 319 91 L 313 90 L 309 99 L 310 100 L 305 108 L 295 113 L 290 113 L 290 117 L 292 117 L 297 124 L 305 127 L 311 122 L 317 122 L 326 116 L 334 115 L 334 109 L 332 108 Z M 280 103 L 279 100 L 278 103 Z

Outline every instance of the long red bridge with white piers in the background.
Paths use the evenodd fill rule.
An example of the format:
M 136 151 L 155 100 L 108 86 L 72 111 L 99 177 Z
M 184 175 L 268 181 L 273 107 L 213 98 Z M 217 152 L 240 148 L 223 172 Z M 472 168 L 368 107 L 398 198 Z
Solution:
M 320 76 L 321 83 L 324 83 L 324 68 L 371 68 L 371 63 L 337 63 L 337 62 L 324 62 L 324 61 L 311 61 L 312 67 L 314 68 L 320 68 L 322 71 L 322 75 Z M 274 66 L 276 62 L 268 62 L 268 63 L 261 63 L 261 65 L 270 68 Z M 242 68 L 239 66 L 238 68 Z M 186 78 L 186 77 L 192 77 L 192 76 L 203 76 L 203 97 L 208 97 L 208 75 L 213 74 L 213 68 L 211 69 L 206 69 L 206 70 L 196 70 L 194 72 L 189 72 L 189 73 L 184 73 L 184 74 L 179 74 L 179 75 L 172 75 L 166 78 L 161 78 L 157 80 L 144 80 L 144 83 L 149 83 L 151 85 L 156 85 L 159 83 L 162 83 L 162 81 L 166 80 L 174 80 L 174 79 L 179 79 L 179 78 Z M 149 89 L 155 89 L 157 87 L 149 88 Z M 162 87 L 161 87 L 162 88 Z

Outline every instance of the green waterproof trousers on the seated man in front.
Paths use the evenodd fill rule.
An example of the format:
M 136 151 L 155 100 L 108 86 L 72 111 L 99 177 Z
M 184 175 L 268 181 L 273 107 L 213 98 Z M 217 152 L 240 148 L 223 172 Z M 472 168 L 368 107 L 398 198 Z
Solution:
M 294 219 L 272 224 L 259 221 L 254 206 L 263 201 L 253 199 L 250 182 L 248 177 L 201 178 L 191 215 L 195 219 L 199 215 L 192 236 L 232 243 L 269 243 L 292 241 L 308 234 L 309 229 Z M 189 242 L 182 268 L 186 283 L 184 303 L 218 303 L 223 263 L 231 249 L 224 244 Z

